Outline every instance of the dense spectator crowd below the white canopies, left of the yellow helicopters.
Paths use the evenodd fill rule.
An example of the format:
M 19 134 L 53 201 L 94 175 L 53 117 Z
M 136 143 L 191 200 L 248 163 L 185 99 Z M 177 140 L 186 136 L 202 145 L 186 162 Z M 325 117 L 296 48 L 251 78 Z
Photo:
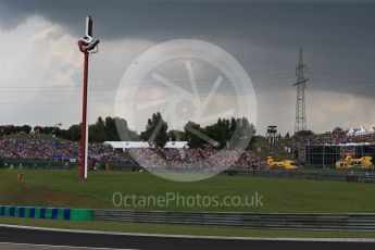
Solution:
M 1 139 L 0 159 L 76 161 L 80 157 L 79 142 Z M 164 168 L 240 168 L 261 167 L 264 161 L 252 150 L 220 150 L 208 145 L 189 149 L 113 149 L 104 143 L 89 143 L 89 158 L 114 163 L 139 163 Z

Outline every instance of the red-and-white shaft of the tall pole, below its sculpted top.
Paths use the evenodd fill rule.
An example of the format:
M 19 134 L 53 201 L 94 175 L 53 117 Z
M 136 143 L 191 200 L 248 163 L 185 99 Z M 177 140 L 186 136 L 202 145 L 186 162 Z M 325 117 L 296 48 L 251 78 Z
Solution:
M 88 78 L 88 52 L 85 51 L 85 66 L 84 66 L 84 91 L 83 91 L 83 117 L 82 117 L 82 138 L 80 138 L 80 165 L 79 165 L 79 177 L 85 179 L 86 170 L 87 170 L 87 161 L 86 161 L 86 153 L 88 145 L 87 142 L 87 78 Z

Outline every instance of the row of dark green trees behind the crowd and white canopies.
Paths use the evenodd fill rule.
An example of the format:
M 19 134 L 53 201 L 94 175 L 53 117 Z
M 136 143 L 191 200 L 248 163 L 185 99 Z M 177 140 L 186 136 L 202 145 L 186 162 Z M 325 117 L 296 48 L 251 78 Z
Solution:
M 29 134 L 32 129 L 28 125 L 9 125 L 2 126 L 0 132 L 2 135 Z M 35 126 L 34 132 L 46 135 L 52 134 L 72 141 L 78 141 L 82 136 L 80 124 L 74 124 L 67 129 L 60 128 L 59 126 Z M 118 132 L 121 133 L 118 134 Z M 247 117 L 218 118 L 215 123 L 204 127 L 189 121 L 183 130 L 168 129 L 167 122 L 158 112 L 148 118 L 146 128 L 140 133 L 129 129 L 124 118 L 111 116 L 105 118 L 98 117 L 95 124 L 89 125 L 89 141 L 142 140 L 162 147 L 172 140 L 187 141 L 190 148 L 201 147 L 204 143 L 211 143 L 217 148 L 236 148 L 238 146 L 243 148 L 241 143 L 248 145 L 254 133 L 254 127 Z

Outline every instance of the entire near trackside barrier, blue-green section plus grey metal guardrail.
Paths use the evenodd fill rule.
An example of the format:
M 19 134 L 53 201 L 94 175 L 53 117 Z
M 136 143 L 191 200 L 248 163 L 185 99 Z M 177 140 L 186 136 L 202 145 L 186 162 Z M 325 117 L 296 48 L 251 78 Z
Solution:
M 375 213 L 187 213 L 0 205 L 0 216 L 259 229 L 375 232 Z

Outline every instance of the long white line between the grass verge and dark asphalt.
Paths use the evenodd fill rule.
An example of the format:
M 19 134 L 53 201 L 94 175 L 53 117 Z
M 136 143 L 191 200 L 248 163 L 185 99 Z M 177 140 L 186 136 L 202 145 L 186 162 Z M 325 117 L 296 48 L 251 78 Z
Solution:
M 315 241 L 315 242 L 374 242 L 375 238 L 291 238 L 291 237 L 227 237 L 227 236 L 197 236 L 197 235 L 162 235 L 162 234 L 139 234 L 139 233 L 120 233 L 120 232 L 101 232 L 101 230 L 75 230 L 61 229 L 51 227 L 34 227 L 0 224 L 0 227 L 30 229 L 30 230 L 48 230 L 74 234 L 91 234 L 91 235 L 113 235 L 113 236 L 140 236 L 140 237 L 160 237 L 160 238 L 191 238 L 191 239 L 223 239 L 223 240 L 268 240 L 268 241 Z

